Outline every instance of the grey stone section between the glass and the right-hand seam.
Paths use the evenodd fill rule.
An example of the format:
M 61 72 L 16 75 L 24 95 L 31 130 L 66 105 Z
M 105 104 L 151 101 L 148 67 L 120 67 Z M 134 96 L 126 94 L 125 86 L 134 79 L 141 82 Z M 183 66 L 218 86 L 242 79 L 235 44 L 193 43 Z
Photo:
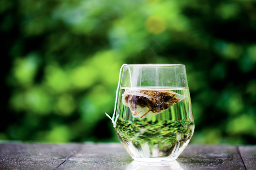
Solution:
M 188 145 L 177 161 L 184 170 L 245 170 L 236 146 Z

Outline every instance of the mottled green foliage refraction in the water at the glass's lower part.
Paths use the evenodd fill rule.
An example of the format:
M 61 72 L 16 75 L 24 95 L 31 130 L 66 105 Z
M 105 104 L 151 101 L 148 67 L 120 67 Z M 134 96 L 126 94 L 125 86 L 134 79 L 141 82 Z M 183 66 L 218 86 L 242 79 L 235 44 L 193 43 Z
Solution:
M 134 146 L 139 151 L 137 153 L 145 154 L 146 144 L 149 149 L 146 151 L 148 156 L 159 157 L 175 154 L 179 146 L 188 143 L 193 133 L 193 126 L 192 120 L 167 121 L 162 124 L 152 122 L 141 124 L 140 121 L 118 120 L 116 133 L 122 143 Z

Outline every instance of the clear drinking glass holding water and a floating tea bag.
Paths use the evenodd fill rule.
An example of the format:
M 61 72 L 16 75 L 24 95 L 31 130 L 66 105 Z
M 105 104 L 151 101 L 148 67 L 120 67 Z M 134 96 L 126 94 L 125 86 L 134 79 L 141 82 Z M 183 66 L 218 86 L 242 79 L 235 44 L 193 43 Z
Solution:
M 116 134 L 138 164 L 176 160 L 194 133 L 185 65 L 124 66 L 116 115 Z

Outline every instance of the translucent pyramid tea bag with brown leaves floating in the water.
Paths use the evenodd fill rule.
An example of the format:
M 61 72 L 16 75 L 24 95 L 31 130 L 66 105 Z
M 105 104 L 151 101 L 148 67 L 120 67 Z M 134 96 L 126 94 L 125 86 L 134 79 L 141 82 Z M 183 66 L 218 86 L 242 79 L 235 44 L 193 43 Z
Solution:
M 181 94 L 165 90 L 131 89 L 122 94 L 123 104 L 130 108 L 132 116 L 136 118 L 159 114 L 184 98 Z

